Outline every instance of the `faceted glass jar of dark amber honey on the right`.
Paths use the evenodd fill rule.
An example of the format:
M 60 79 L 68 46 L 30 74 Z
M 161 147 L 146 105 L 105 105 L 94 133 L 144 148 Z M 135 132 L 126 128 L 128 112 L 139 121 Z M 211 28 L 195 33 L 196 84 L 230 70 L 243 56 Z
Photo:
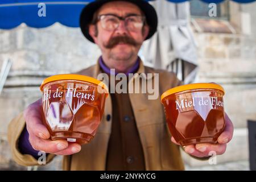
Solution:
M 182 146 L 217 143 L 225 127 L 224 90 L 216 84 L 189 85 L 162 95 L 168 129 Z

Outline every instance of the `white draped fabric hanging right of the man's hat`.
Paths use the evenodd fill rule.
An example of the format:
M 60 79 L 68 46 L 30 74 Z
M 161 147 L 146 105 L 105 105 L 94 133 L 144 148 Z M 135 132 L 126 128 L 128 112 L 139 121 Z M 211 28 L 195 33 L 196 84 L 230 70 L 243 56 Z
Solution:
M 196 43 L 189 24 L 189 2 L 163 0 L 151 4 L 158 13 L 158 31 L 142 47 L 146 65 L 176 73 L 185 84 L 193 82 L 197 71 Z

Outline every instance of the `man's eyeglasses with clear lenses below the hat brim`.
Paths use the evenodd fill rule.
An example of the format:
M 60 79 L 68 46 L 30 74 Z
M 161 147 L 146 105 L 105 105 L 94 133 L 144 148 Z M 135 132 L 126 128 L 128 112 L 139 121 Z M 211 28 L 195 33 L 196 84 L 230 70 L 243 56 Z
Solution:
M 121 20 L 125 22 L 127 30 L 139 31 L 144 25 L 145 17 L 142 15 L 128 15 L 126 17 L 121 17 L 114 14 L 104 14 L 99 15 L 98 20 L 100 20 L 102 28 L 107 31 L 116 30 L 119 27 Z

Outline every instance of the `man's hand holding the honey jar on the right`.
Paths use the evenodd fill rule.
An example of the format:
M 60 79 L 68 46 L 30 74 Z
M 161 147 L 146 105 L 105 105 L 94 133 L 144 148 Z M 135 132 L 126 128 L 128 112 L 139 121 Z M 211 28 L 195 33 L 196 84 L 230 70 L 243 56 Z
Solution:
M 199 143 L 199 144 L 191 144 L 184 147 L 184 151 L 190 155 L 196 156 L 198 158 L 203 158 L 209 156 L 210 151 L 215 151 L 217 155 L 224 154 L 226 151 L 226 143 L 228 143 L 233 137 L 233 123 L 230 121 L 228 115 L 225 113 L 225 122 L 226 126 L 224 131 L 218 137 L 217 144 L 210 143 Z M 175 141 L 175 139 L 171 138 L 172 142 L 180 145 Z

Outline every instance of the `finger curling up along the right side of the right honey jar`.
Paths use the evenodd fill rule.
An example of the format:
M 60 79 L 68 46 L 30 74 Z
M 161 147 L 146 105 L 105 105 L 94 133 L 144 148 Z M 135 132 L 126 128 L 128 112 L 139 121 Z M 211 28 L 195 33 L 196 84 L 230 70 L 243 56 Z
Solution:
M 231 120 L 229 119 L 228 115 L 225 113 L 225 129 L 221 133 L 221 135 L 218 137 L 218 143 L 228 143 L 232 137 L 234 132 L 234 126 Z

